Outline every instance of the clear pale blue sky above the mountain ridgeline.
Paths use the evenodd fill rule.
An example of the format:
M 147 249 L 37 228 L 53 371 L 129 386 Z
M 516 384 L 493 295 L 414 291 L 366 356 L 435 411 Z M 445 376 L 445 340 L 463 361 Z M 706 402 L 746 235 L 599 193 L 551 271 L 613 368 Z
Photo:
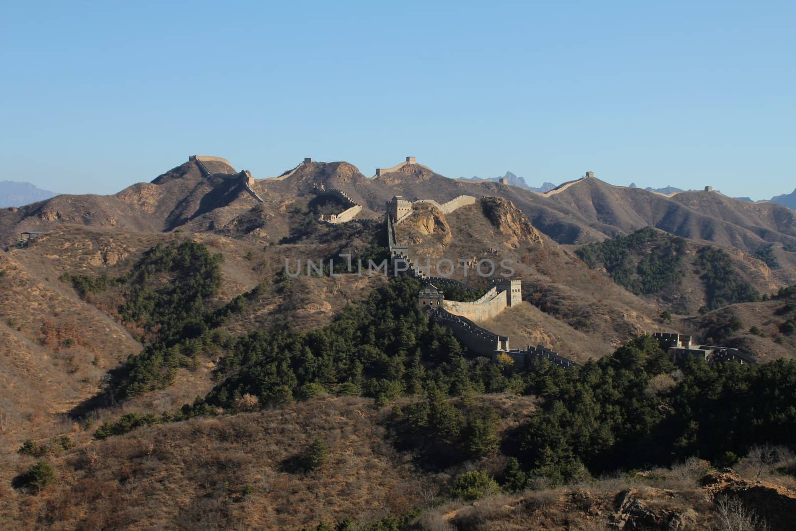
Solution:
M 531 185 L 796 186 L 796 2 L 4 2 L 0 180 L 114 193 L 415 155 Z

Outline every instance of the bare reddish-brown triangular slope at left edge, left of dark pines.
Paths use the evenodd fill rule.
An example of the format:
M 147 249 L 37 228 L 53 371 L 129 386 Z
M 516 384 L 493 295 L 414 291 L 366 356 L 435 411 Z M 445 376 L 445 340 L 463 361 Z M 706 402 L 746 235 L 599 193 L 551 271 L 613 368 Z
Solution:
M 15 254 L 21 253 L 0 253 L 0 408 L 11 419 L 0 438 L 6 451 L 58 429 L 62 415 L 100 390 L 107 369 L 141 349 L 57 276 L 34 272 Z

